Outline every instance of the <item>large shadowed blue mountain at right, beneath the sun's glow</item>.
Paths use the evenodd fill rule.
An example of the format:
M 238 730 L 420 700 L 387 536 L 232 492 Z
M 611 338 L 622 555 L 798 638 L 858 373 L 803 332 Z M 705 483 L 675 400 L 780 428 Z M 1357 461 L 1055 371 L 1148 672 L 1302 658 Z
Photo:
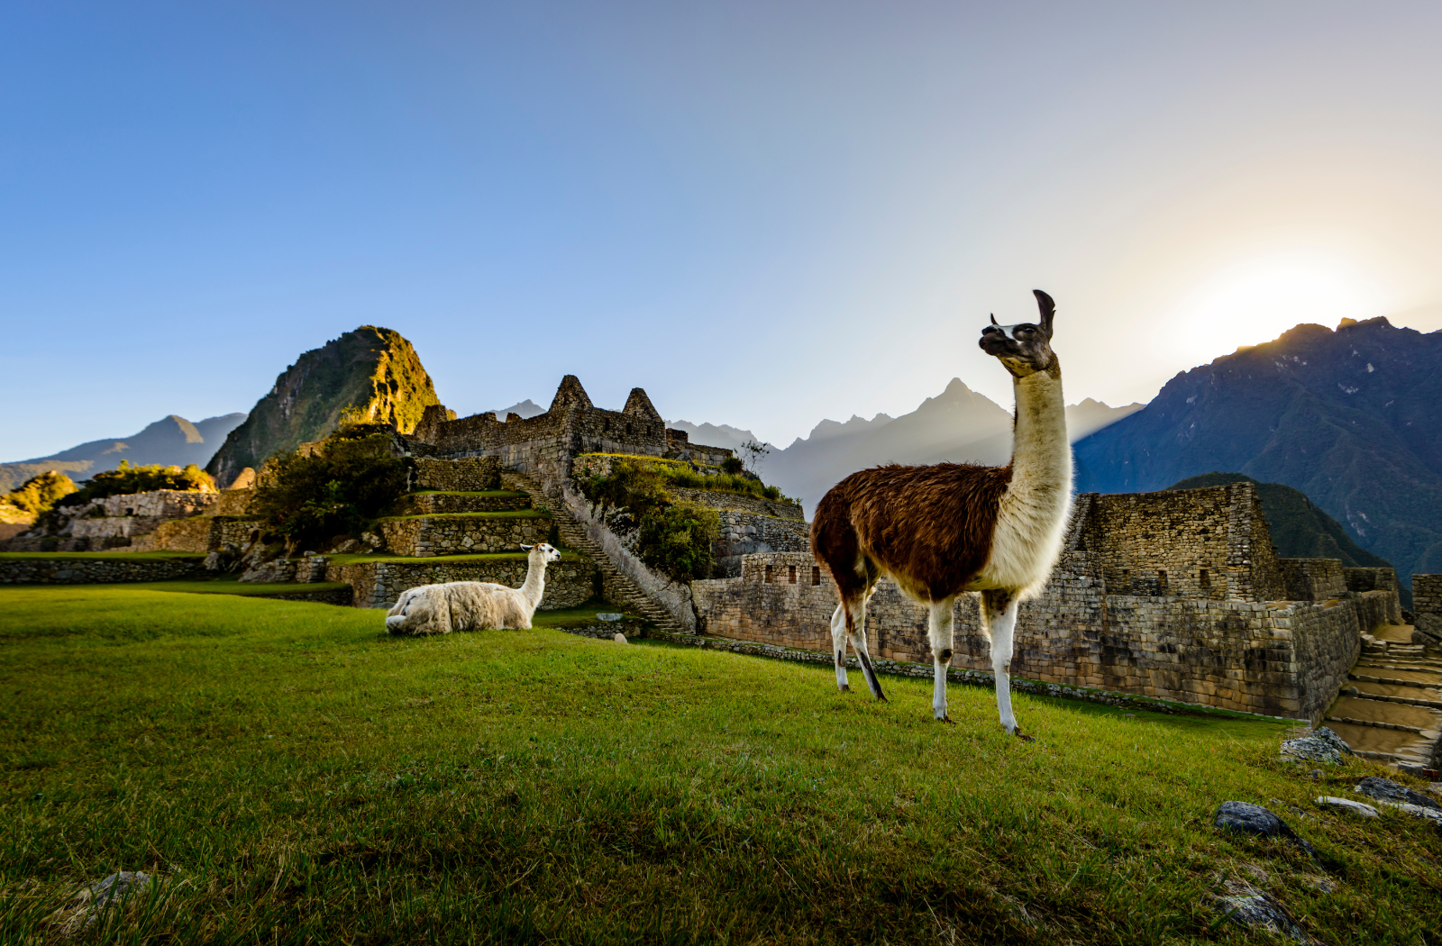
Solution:
M 1076 444 L 1077 489 L 1237 470 L 1304 492 L 1397 578 L 1442 571 L 1442 332 L 1301 324 L 1167 382 Z

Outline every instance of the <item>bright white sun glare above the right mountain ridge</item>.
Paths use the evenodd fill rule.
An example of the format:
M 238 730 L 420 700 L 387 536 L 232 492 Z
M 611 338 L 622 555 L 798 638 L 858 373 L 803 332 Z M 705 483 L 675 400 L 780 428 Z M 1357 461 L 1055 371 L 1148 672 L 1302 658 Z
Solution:
M 1158 353 L 1193 363 L 1269 342 L 1304 322 L 1335 327 L 1386 310 L 1387 291 L 1350 260 L 1319 254 L 1256 258 L 1194 284 L 1162 316 Z

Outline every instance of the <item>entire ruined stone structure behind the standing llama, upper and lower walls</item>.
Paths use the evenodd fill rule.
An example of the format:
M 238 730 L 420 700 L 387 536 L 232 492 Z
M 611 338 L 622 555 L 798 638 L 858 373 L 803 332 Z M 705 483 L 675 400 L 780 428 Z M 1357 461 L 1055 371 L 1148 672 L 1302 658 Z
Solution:
M 1383 571 L 1279 560 L 1250 483 L 1083 495 L 1051 581 L 1021 607 L 1012 672 L 1315 720 L 1361 635 L 1400 617 Z M 809 552 L 746 555 L 740 578 L 698 581 L 694 601 L 707 635 L 831 646 L 836 590 Z M 867 613 L 872 655 L 930 663 L 924 607 L 883 581 Z M 956 606 L 953 663 L 991 666 L 973 596 Z

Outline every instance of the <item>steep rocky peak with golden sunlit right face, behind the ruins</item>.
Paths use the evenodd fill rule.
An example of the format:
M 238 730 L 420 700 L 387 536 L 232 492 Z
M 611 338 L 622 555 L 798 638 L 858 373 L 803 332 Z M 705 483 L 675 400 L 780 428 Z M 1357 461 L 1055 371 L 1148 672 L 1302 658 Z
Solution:
M 296 359 L 270 394 L 231 431 L 206 472 L 222 487 L 277 450 L 320 440 L 343 411 L 410 433 L 435 398 L 431 376 L 398 332 L 360 326 Z

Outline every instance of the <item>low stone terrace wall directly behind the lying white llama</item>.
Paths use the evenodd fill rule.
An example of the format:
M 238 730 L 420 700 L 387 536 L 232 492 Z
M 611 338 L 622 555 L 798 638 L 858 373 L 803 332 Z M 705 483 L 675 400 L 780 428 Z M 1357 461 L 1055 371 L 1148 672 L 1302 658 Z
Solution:
M 355 590 L 356 607 L 395 604 L 401 591 L 423 584 L 444 581 L 493 581 L 519 588 L 526 580 L 528 562 L 523 557 L 487 561 L 425 562 L 375 561 L 355 565 L 329 565 L 326 581 L 345 581 Z M 596 597 L 598 577 L 596 564 L 585 558 L 562 558 L 551 562 L 545 573 L 545 594 L 541 610 L 577 607 Z

